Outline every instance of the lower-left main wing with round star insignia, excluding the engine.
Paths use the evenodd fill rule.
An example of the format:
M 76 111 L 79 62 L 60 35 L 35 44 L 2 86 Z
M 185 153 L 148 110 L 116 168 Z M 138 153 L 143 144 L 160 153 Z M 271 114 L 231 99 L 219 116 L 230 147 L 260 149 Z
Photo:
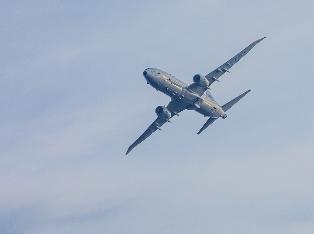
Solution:
M 185 108 L 183 106 L 181 106 L 177 101 L 171 99 L 171 101 L 169 102 L 167 109 L 171 112 L 171 117 L 170 119 L 174 116 L 174 115 L 178 115 L 179 116 L 179 112 L 181 112 L 182 110 L 184 110 Z M 154 131 L 156 131 L 157 129 L 161 130 L 161 126 L 166 123 L 168 120 L 166 119 L 162 119 L 160 117 L 158 117 L 147 129 L 146 131 L 140 135 L 139 138 L 137 138 L 136 141 L 133 142 L 132 145 L 130 145 L 128 151 L 126 152 L 126 155 L 138 144 L 140 144 L 142 141 L 144 141 L 147 137 L 149 137 Z M 170 121 L 169 121 L 170 122 Z

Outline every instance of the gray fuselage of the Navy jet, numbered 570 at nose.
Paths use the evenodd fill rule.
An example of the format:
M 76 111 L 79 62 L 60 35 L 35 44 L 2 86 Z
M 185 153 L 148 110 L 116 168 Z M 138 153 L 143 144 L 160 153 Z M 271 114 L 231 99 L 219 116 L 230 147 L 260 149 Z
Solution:
M 205 94 L 200 96 L 190 91 L 187 84 L 167 72 L 156 68 L 147 68 L 143 75 L 152 87 L 176 100 L 185 109 L 195 110 L 206 117 L 218 118 L 225 114 L 215 100 Z

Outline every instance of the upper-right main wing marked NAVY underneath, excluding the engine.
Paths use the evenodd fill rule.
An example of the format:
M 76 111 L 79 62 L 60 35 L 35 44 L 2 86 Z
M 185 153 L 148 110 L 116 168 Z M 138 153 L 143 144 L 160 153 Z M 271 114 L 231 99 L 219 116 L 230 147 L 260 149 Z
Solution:
M 216 80 L 219 81 L 218 78 L 221 77 L 222 74 L 224 74 L 225 72 L 229 72 L 230 67 L 232 67 L 234 64 L 236 64 L 243 56 L 245 56 L 247 54 L 247 52 L 249 52 L 257 43 L 259 43 L 264 38 L 266 38 L 266 37 L 263 37 L 260 40 L 254 41 L 253 43 L 251 43 L 251 45 L 246 47 L 239 54 L 237 54 L 236 56 L 231 58 L 229 61 L 225 62 L 223 65 L 216 68 L 211 73 L 207 74 L 205 77 L 209 81 L 208 87 L 211 86 L 211 84 L 213 82 L 215 82 Z M 186 88 L 188 88 L 190 91 L 192 91 L 192 92 L 194 92 L 200 96 L 203 95 L 205 93 L 205 91 L 207 90 L 207 87 L 205 87 L 205 88 L 199 87 L 194 83 L 188 85 Z

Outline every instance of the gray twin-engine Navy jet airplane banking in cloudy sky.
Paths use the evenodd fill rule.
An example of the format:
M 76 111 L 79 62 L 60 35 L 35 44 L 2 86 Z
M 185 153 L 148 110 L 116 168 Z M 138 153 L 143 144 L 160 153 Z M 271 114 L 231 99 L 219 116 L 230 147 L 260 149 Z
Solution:
M 251 89 L 246 91 L 245 93 L 242 93 L 240 96 L 234 98 L 230 102 L 220 106 L 210 93 L 210 86 L 215 81 L 219 82 L 218 78 L 222 74 L 224 74 L 225 72 L 230 72 L 229 69 L 235 63 L 237 63 L 257 43 L 265 38 L 266 37 L 263 37 L 259 40 L 252 42 L 248 47 L 246 47 L 236 56 L 234 56 L 229 61 L 225 62 L 223 65 L 219 66 L 217 69 L 207 74 L 206 76 L 196 74 L 192 79 L 193 83 L 190 85 L 185 84 L 184 82 L 160 69 L 145 69 L 143 75 L 147 81 L 147 84 L 150 84 L 157 91 L 161 91 L 162 93 L 168 95 L 169 97 L 171 97 L 171 100 L 167 107 L 156 107 L 155 113 L 158 116 L 157 119 L 146 129 L 146 131 L 142 135 L 140 135 L 140 137 L 136 141 L 134 141 L 132 145 L 129 146 L 126 155 L 135 146 L 144 141 L 157 129 L 161 130 L 161 126 L 166 122 L 170 122 L 170 119 L 172 117 L 174 117 L 175 115 L 179 116 L 179 113 L 185 109 L 195 110 L 196 112 L 203 114 L 205 117 L 209 117 L 207 122 L 197 134 L 200 134 L 218 118 L 227 118 L 227 114 L 225 112 L 229 110 L 246 94 L 248 94 Z

